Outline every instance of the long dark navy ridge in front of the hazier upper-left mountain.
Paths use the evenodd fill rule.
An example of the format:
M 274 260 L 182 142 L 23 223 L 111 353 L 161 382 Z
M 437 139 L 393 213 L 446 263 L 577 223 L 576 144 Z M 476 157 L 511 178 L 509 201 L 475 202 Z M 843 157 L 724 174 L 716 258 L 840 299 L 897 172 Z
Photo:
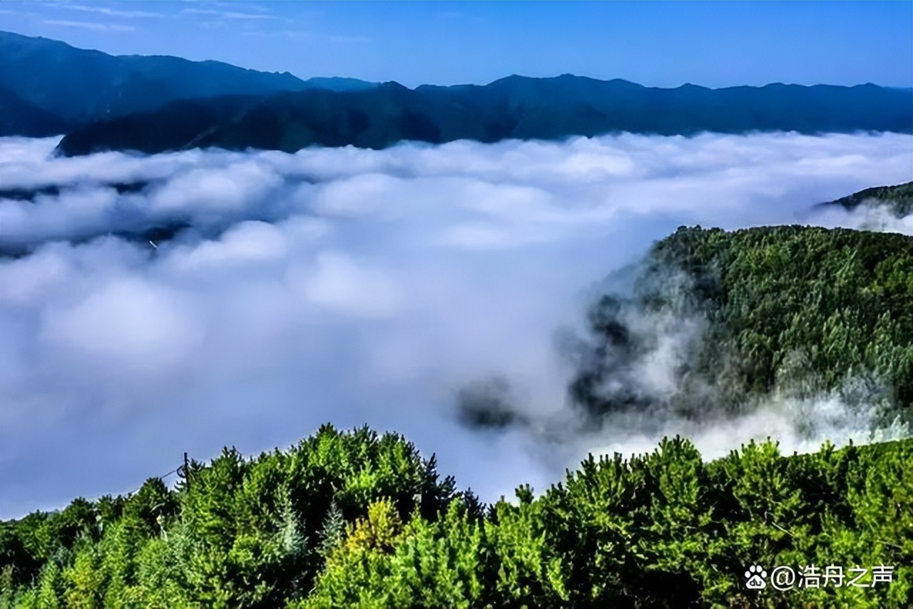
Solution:
M 616 131 L 690 135 L 701 131 L 913 131 L 913 96 L 876 85 L 773 84 L 761 88 L 654 89 L 571 75 L 512 76 L 486 86 L 395 82 L 356 91 L 282 92 L 247 100 L 175 102 L 74 131 L 66 154 L 163 152 L 196 146 L 380 149 L 402 141 L 497 142 Z M 231 106 L 233 111 L 226 112 Z M 189 116 L 188 116 L 189 115 Z

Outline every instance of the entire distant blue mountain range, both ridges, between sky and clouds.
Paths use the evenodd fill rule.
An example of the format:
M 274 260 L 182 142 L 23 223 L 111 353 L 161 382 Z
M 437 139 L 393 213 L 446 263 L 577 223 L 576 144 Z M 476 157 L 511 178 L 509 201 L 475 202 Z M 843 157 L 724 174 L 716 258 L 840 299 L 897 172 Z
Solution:
M 58 152 L 195 147 L 295 152 L 397 142 L 559 139 L 611 132 L 913 133 L 913 90 L 771 84 L 677 89 L 572 75 L 416 89 L 301 80 L 215 61 L 112 57 L 0 33 L 0 135 L 67 133 Z

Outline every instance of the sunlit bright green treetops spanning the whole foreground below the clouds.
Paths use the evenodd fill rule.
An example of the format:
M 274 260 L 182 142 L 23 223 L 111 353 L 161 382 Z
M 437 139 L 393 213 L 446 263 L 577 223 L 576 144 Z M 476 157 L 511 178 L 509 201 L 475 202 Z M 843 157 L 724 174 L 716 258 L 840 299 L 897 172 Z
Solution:
M 194 463 L 176 490 L 0 525 L 5 607 L 906 607 L 913 440 L 711 463 L 681 438 L 591 458 L 483 508 L 399 436 L 326 426 L 286 452 Z M 778 592 L 759 564 L 895 566 Z M 872 575 L 862 582 L 872 584 Z

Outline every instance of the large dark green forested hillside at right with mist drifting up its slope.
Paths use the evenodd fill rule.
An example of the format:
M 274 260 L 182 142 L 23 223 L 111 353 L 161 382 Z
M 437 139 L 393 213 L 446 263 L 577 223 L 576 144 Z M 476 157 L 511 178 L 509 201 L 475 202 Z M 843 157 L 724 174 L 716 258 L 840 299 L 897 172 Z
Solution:
M 572 393 L 597 419 L 630 410 L 713 418 L 772 393 L 834 393 L 876 407 L 883 422 L 907 418 L 910 302 L 909 236 L 682 227 L 653 247 L 630 294 L 593 307 L 593 346 L 578 355 Z M 636 363 L 676 331 L 675 391 L 650 391 Z

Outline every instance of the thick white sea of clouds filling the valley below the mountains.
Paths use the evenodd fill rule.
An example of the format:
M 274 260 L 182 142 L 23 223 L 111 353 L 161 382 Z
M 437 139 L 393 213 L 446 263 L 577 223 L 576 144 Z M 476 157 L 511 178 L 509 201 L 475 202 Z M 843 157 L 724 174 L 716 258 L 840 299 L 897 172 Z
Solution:
M 809 209 L 908 181 L 913 163 L 897 134 L 70 159 L 56 143 L 0 140 L 2 188 L 38 189 L 0 201 L 0 250 L 19 254 L 0 261 L 4 518 L 324 422 L 402 432 L 488 500 L 555 481 L 589 449 L 651 448 L 617 427 L 558 444 L 473 432 L 457 404 L 488 386 L 530 418 L 567 412 L 555 333 L 582 331 L 594 282 L 680 225 L 871 224 Z M 189 228 L 142 238 L 165 225 Z M 768 432 L 798 449 L 803 408 L 836 422 L 813 441 L 855 433 L 828 399 L 662 431 L 709 455 Z

